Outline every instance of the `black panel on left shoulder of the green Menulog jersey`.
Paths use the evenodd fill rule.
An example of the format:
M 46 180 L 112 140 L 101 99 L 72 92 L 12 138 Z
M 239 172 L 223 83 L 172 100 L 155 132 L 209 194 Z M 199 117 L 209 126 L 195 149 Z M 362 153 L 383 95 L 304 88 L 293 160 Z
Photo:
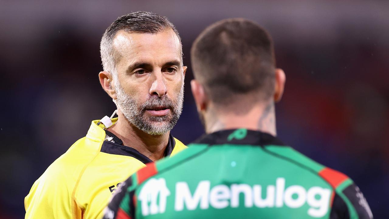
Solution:
M 107 206 L 103 219 L 112 219 L 117 217 L 117 212 L 119 211 L 119 206 L 124 196 L 127 193 L 127 189 L 132 185 L 132 177 L 124 181 L 121 186 L 116 190 L 116 193 L 113 195 L 112 200 Z M 132 199 L 132 197 L 130 197 Z M 133 209 L 131 209 L 133 212 Z

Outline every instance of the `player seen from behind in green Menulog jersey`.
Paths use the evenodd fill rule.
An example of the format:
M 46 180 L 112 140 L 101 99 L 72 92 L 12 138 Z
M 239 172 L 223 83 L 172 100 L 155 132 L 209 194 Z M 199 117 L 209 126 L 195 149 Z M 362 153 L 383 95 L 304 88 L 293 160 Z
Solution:
M 219 21 L 193 43 L 191 61 L 207 134 L 123 182 L 105 219 L 373 218 L 349 177 L 275 137 L 285 74 L 263 28 Z

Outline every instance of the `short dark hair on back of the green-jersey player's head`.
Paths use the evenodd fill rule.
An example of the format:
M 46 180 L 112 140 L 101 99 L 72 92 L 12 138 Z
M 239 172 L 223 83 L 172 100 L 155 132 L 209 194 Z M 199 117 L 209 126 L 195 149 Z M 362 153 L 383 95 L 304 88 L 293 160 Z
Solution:
M 256 100 L 273 95 L 273 42 L 253 21 L 233 18 L 210 25 L 193 43 L 191 62 L 195 78 L 217 104 L 229 105 L 237 94 Z

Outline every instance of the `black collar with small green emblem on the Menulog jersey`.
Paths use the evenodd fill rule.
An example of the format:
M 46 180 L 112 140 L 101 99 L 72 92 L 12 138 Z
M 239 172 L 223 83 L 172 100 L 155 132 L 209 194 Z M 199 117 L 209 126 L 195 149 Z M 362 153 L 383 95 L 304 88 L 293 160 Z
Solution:
M 207 145 L 279 145 L 285 146 L 279 138 L 266 132 L 253 131 L 249 129 L 228 129 L 204 134 L 194 144 Z

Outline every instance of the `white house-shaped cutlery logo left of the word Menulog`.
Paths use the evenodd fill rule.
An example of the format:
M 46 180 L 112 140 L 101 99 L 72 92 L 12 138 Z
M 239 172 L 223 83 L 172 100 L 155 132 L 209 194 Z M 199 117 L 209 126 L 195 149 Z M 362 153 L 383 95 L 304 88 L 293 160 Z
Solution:
M 142 215 L 162 214 L 166 210 L 166 198 L 170 195 L 164 178 L 151 178 L 139 192 Z

